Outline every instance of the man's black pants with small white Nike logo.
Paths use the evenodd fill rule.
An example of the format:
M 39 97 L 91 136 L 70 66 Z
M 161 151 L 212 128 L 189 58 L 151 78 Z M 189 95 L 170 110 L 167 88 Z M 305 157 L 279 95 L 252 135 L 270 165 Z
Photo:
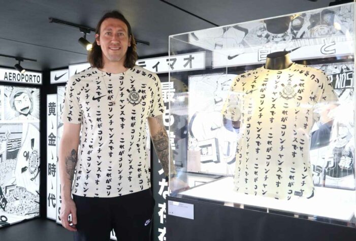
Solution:
M 110 240 L 114 229 L 118 241 L 149 241 L 154 208 L 150 189 L 120 197 L 73 195 L 77 206 L 76 241 Z

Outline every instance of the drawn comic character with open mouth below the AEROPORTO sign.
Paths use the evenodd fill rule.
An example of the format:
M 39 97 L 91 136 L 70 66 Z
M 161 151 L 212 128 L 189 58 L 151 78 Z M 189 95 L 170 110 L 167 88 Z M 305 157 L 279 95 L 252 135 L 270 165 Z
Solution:
M 14 88 L 10 94 L 10 106 L 17 116 L 12 120 L 38 120 L 31 115 L 34 109 L 32 94 L 26 88 Z

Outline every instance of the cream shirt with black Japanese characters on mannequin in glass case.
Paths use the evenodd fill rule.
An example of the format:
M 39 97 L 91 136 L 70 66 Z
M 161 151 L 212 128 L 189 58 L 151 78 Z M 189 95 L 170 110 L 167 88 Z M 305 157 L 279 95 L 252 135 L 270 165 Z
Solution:
M 315 110 L 336 101 L 327 75 L 304 65 L 261 67 L 237 76 L 222 110 L 225 118 L 241 122 L 236 190 L 277 199 L 311 197 L 309 135 L 319 118 Z

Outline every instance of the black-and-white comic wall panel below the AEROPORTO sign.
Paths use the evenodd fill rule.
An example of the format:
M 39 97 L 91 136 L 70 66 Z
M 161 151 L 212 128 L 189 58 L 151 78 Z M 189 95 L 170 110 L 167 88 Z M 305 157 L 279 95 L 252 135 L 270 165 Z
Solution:
M 0 227 L 39 215 L 39 89 L 0 86 Z

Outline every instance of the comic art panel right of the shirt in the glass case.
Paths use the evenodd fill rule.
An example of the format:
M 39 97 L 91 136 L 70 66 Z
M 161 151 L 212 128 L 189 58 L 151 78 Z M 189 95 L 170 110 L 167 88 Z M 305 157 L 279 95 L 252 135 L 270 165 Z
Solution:
M 354 63 L 312 67 L 329 76 L 339 98 L 337 105 L 319 110 L 319 122 L 312 130 L 314 185 L 354 190 Z

